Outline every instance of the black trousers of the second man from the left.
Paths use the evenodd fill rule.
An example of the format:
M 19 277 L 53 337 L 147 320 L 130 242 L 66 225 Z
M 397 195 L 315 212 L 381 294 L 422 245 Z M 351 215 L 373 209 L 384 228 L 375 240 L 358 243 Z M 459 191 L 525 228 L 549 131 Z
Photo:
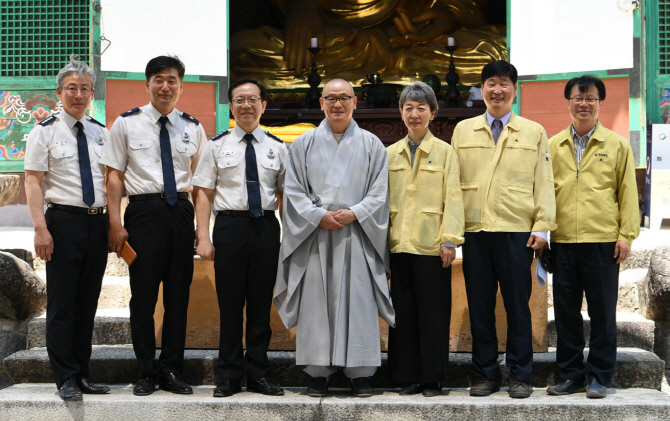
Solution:
M 186 341 L 186 313 L 193 280 L 193 205 L 178 200 L 128 204 L 125 228 L 137 253 L 130 265 L 130 333 L 138 378 L 156 377 L 154 311 L 163 282 L 163 331 L 159 366 L 162 373 L 181 374 Z

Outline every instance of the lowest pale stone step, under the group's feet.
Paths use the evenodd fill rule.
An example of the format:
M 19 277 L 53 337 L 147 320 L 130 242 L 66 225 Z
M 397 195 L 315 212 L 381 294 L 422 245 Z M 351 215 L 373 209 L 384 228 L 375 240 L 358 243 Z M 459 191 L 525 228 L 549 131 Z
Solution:
M 132 395 L 128 385 L 112 386 L 109 395 L 85 395 L 83 402 L 65 403 L 56 387 L 21 384 L 0 391 L 0 419 L 42 421 L 92 420 L 667 420 L 670 398 L 648 389 L 609 389 L 602 400 L 584 394 L 549 396 L 535 389 L 528 399 L 511 399 L 506 391 L 487 398 L 470 397 L 464 389 L 443 390 L 442 396 L 399 396 L 376 390 L 369 398 L 353 397 L 348 389 L 312 398 L 305 389 L 287 389 L 285 396 L 242 392 L 213 398 L 212 387 L 195 387 L 193 395 L 157 391 Z

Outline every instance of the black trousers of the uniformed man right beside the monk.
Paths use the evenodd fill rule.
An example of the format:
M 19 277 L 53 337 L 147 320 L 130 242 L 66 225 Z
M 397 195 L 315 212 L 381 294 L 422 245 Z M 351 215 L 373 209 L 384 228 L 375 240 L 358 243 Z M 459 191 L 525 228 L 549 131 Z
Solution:
M 257 380 L 270 371 L 267 357 L 272 329 L 270 310 L 277 278 L 279 221 L 270 217 L 217 215 L 213 231 L 214 273 L 221 330 L 218 372 L 221 380 Z M 242 317 L 246 302 L 246 348 Z

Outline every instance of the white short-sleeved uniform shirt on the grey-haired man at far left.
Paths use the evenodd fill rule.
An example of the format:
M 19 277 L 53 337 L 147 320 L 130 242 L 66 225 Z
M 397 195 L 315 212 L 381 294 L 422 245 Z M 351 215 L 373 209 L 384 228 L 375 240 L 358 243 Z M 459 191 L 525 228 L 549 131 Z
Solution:
M 28 135 L 26 143 L 25 169 L 44 171 L 44 202 L 59 205 L 79 206 L 88 208 L 84 203 L 81 188 L 81 171 L 79 170 L 79 149 L 77 133 L 74 127 L 77 120 L 61 111 L 57 116 L 44 120 Z M 106 204 L 105 167 L 100 164 L 103 145 L 109 133 L 90 117 L 81 120 L 84 134 L 88 142 L 88 157 L 93 175 L 95 202 L 93 207 Z

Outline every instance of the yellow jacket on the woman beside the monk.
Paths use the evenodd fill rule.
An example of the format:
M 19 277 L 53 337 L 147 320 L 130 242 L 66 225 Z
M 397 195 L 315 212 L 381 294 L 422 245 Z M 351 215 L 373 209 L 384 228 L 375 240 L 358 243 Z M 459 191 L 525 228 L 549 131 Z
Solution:
M 411 166 L 408 137 L 389 146 L 391 253 L 439 256 L 440 245 L 463 243 L 463 200 L 458 159 L 430 131 Z

